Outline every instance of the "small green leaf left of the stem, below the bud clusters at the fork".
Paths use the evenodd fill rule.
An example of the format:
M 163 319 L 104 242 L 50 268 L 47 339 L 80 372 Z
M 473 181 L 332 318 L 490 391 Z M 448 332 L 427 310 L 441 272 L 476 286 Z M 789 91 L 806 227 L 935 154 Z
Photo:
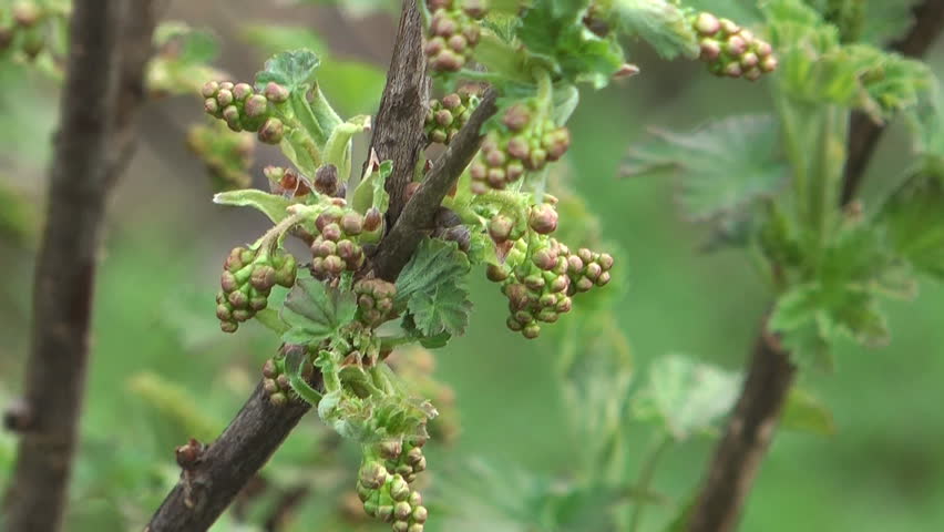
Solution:
M 283 341 L 302 346 L 317 344 L 350 324 L 356 311 L 352 293 L 342 293 L 299 275 L 281 309 L 281 319 L 290 327 L 283 335 Z

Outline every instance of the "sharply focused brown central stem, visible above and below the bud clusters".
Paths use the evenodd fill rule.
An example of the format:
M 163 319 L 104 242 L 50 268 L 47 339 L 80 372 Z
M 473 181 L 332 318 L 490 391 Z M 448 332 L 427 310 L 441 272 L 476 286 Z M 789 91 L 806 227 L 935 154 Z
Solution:
M 390 208 L 396 208 L 396 212 L 404 207 L 402 190 L 412 180 L 412 170 L 424 145 L 422 127 L 428 91 L 428 81 L 423 75 L 422 28 L 415 1 L 407 0 L 403 10 L 372 140 L 379 155 L 394 162 L 394 175 L 388 183 L 388 190 L 391 194 Z M 481 121 L 472 122 L 465 130 L 474 127 L 474 133 L 461 132 L 454 141 L 453 153 L 474 153 L 478 149 Z M 463 143 L 471 145 L 463 147 Z M 471 155 L 463 156 L 468 163 Z M 441 178 L 450 183 L 454 183 L 464 170 L 464 165 L 459 167 L 454 163 L 442 166 L 449 168 L 449 174 L 445 174 L 445 170 L 440 171 Z M 440 202 L 444 195 L 445 192 L 440 196 Z M 408 206 L 407 212 L 413 208 Z M 412 216 L 407 219 L 412 219 Z M 408 248 L 409 243 L 390 243 L 401 222 L 381 241 L 381 249 L 396 247 L 412 254 L 412 248 Z M 374 264 L 382 266 L 394 278 L 399 272 L 386 260 Z M 203 449 L 192 466 L 183 468 L 181 480 L 152 516 L 147 532 L 198 532 L 209 528 L 309 409 L 302 402 L 273 407 L 261 385 L 258 386 L 223 434 Z

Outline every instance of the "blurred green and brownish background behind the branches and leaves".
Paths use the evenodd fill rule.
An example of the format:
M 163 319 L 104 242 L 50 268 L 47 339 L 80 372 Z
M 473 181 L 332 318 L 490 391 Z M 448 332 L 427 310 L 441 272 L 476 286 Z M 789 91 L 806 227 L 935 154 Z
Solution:
M 337 94 L 346 114 L 374 111 L 382 83 L 378 69 L 389 60 L 396 29 L 388 14 L 356 18 L 331 7 L 274 8 L 242 0 L 189 3 L 174 2 L 167 17 L 212 28 L 223 43 L 219 65 L 234 78 L 250 78 L 265 59 L 246 41 L 245 24 L 307 27 L 328 43 L 330 59 L 358 61 L 322 72 L 328 98 Z M 935 72 L 944 73 L 944 47 L 928 59 Z M 698 64 L 663 62 L 642 45 L 632 60 L 640 75 L 584 93 L 571 123 L 574 144 L 566 170 L 574 190 L 601 218 L 603 236 L 618 249 L 617 264 L 626 273 L 613 318 L 629 339 L 638 376 L 669 352 L 737 370 L 770 295 L 745 254 L 700 249 L 707 229 L 681 218 L 671 181 L 625 180 L 618 168 L 648 127 L 684 130 L 711 117 L 763 112 L 769 105 L 763 83 L 717 80 Z M 57 91 L 49 80 L 11 65 L 0 68 L 0 183 L 22 198 L 16 212 L 4 200 L 0 214 L 22 221 L 25 229 L 24 235 L 0 233 L 0 401 L 7 402 L 19 391 L 28 351 L 32 242 L 40 227 L 35 213 L 41 212 Z M 199 120 L 201 105 L 192 98 L 151 104 L 137 156 L 112 202 L 68 530 L 140 530 L 176 481 L 174 446 L 189 436 L 212 439 L 277 347 L 259 327 L 236 336 L 218 332 L 213 297 L 219 265 L 228 249 L 258 234 L 265 222 L 209 202 L 213 191 L 203 166 L 183 142 L 187 124 Z M 887 186 L 886 176 L 896 175 L 907 154 L 903 129 L 892 133 L 869 172 L 866 203 Z M 362 143 L 359 147 L 362 153 Z M 276 150 L 258 149 L 256 186 L 263 185 L 259 168 L 279 161 Z M 428 447 L 431 505 L 434 484 L 459 474 L 454 466 L 468 459 L 496 464 L 499 482 L 511 482 L 514 468 L 504 464 L 553 477 L 566 474 L 579 452 L 581 442 L 565 436 L 567 419 L 553 371 L 558 338 L 526 341 L 507 331 L 501 295 L 484 279 L 473 283 L 473 299 L 469 334 L 437 352 L 435 376 L 454 390 L 462 430 L 452 446 Z M 804 387 L 832 410 L 837 433 L 779 433 L 741 530 L 944 530 L 944 287 L 928 280 L 916 301 L 886 308 L 890 346 L 842 345 L 834 375 L 803 376 Z M 351 524 L 357 519 L 337 511 L 345 508 L 343 490 L 352 485 L 356 451 L 337 449 L 318 423 L 316 416 L 302 421 L 268 470 L 279 485 L 308 487 L 309 497 L 279 530 L 387 530 Z M 635 478 L 653 431 L 628 419 L 627 430 L 628 464 L 620 474 Z M 0 482 L 9 473 L 13 442 L 11 434 L 0 433 Z M 711 446 L 701 439 L 673 449 L 656 474 L 655 490 L 684 502 L 700 481 Z M 653 505 L 643 530 L 663 530 L 676 510 L 675 504 Z M 253 512 L 266 511 L 246 513 L 252 521 L 257 518 Z M 214 530 L 255 530 L 235 521 L 229 515 Z M 433 513 L 428 530 L 450 530 L 437 521 Z M 470 530 L 497 530 L 488 522 L 474 524 L 479 528 Z

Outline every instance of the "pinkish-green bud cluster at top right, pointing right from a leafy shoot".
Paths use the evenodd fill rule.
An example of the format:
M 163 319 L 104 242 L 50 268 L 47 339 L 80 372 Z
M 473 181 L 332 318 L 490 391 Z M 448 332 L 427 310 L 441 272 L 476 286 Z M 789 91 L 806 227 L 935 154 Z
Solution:
M 691 18 L 691 27 L 698 33 L 700 59 L 715 75 L 756 81 L 777 70 L 770 43 L 735 22 L 700 12 Z

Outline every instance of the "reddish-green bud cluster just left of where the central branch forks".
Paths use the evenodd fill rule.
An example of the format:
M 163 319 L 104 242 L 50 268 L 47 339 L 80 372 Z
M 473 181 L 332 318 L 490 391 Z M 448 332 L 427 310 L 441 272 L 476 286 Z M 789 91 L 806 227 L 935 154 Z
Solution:
M 343 200 L 336 201 L 343 204 Z M 365 254 L 359 237 L 365 232 L 379 228 L 380 218 L 379 213 L 368 212 L 367 216 L 362 216 L 347 207 L 318 215 L 315 219 L 318 236 L 311 243 L 311 275 L 320 280 L 330 280 L 345 272 L 360 269 Z

